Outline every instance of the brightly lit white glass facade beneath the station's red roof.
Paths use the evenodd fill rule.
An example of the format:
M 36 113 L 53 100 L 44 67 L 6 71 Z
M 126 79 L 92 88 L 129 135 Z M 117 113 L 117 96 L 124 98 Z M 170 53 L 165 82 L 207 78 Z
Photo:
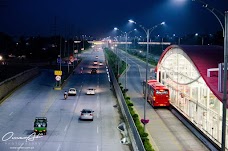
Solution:
M 167 51 L 157 66 L 156 77 L 169 88 L 171 104 L 221 146 L 223 104 L 209 89 L 188 55 L 178 47 Z

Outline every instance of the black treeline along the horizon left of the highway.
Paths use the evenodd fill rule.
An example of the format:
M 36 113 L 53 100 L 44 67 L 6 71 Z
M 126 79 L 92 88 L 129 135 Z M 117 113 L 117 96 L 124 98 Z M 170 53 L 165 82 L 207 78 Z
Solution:
M 74 43 L 74 41 L 81 42 Z M 51 61 L 56 60 L 60 52 L 62 57 L 68 57 L 74 53 L 74 50 L 78 50 L 78 53 L 80 53 L 83 47 L 86 49 L 89 45 L 87 40 L 79 40 L 77 38 L 21 36 L 16 39 L 5 33 L 0 33 L 0 54 L 5 59 L 23 56 L 33 61 Z

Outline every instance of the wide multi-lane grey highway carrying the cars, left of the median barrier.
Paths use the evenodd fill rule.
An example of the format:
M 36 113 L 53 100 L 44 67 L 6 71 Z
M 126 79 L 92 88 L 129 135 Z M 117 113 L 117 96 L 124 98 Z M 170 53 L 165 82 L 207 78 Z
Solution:
M 98 59 L 95 58 L 98 56 Z M 0 105 L 0 150 L 33 151 L 130 151 L 130 145 L 120 143 L 117 129 L 122 122 L 117 104 L 110 90 L 105 65 L 97 66 L 98 73 L 90 74 L 93 61 L 104 62 L 103 51 L 86 51 L 62 90 L 54 90 L 53 70 L 41 74 L 14 91 Z M 83 73 L 80 74 L 80 68 Z M 65 90 L 74 87 L 76 96 L 63 99 Z M 87 88 L 96 89 L 86 95 Z M 79 120 L 80 111 L 91 108 L 93 121 Z M 47 117 L 47 135 L 33 133 L 35 117 Z

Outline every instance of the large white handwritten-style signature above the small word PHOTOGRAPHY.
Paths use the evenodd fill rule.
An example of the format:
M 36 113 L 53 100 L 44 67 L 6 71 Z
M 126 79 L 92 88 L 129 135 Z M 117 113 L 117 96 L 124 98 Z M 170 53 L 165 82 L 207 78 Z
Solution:
M 34 141 L 35 139 L 42 138 L 43 136 L 36 135 L 35 133 L 32 133 L 31 135 L 27 137 L 20 137 L 20 136 L 14 136 L 13 132 L 8 132 L 4 136 L 2 136 L 2 141 L 8 141 L 8 140 L 25 140 L 26 142 L 28 141 Z

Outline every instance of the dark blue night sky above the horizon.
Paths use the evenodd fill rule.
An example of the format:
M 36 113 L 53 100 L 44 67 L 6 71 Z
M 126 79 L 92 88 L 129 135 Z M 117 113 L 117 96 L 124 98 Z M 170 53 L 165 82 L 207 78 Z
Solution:
M 204 0 L 224 14 L 228 0 Z M 133 19 L 146 28 L 166 22 L 152 34 L 182 36 L 215 33 L 219 22 L 192 0 L 0 0 L 0 32 L 11 36 L 112 35 L 114 27 L 130 31 Z M 221 18 L 224 23 L 224 18 Z M 138 28 L 143 35 L 143 31 Z

